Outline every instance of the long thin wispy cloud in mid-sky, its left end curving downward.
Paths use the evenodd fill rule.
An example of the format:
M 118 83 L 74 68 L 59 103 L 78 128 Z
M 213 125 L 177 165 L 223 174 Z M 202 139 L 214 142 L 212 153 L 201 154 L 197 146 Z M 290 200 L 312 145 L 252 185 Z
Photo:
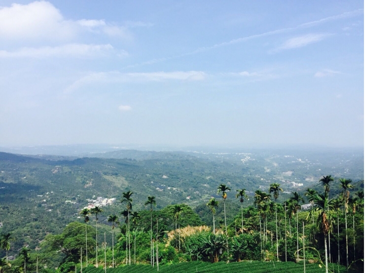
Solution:
M 93 83 L 143 83 L 163 81 L 202 81 L 206 73 L 202 71 L 173 71 L 173 72 L 139 72 L 121 73 L 119 71 L 97 72 L 82 77 L 69 86 L 65 93 L 73 92 L 82 86 Z

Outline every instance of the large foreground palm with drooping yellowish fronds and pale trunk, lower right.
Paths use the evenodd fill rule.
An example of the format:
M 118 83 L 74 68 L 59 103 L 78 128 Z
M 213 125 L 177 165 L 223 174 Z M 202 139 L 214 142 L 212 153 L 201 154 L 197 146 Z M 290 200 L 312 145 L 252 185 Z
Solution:
M 328 273 L 328 258 L 327 258 L 327 234 L 332 231 L 333 217 L 331 210 L 333 210 L 333 201 L 328 198 L 326 192 L 323 194 L 316 193 L 313 199 L 316 205 L 313 207 L 309 215 L 318 213 L 317 227 L 323 232 L 324 237 L 324 257 L 325 257 L 325 272 Z M 308 218 L 307 216 L 307 218 Z

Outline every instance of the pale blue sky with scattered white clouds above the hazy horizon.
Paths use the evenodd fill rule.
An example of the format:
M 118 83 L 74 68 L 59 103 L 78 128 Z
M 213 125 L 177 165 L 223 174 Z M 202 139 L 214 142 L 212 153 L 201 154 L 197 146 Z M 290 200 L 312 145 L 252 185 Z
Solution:
M 0 0 L 0 146 L 363 147 L 363 1 Z

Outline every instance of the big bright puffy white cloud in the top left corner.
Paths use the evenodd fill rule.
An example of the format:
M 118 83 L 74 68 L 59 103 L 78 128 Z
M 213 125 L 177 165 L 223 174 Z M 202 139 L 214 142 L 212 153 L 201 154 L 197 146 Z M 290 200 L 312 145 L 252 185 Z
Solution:
M 58 9 L 45 1 L 0 7 L 0 38 L 4 40 L 72 41 L 80 33 L 87 32 L 130 37 L 126 27 L 104 20 L 66 20 Z

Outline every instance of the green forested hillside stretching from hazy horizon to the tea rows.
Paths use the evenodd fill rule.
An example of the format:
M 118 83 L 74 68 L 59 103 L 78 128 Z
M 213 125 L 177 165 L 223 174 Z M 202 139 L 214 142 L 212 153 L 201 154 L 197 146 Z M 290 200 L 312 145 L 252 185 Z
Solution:
M 346 205 L 348 212 L 344 214 L 344 199 L 338 201 L 337 210 L 331 207 L 328 253 L 329 261 L 336 263 L 335 266 L 337 262 L 347 265 L 346 253 L 350 263 L 363 257 L 363 196 L 361 199 L 360 194 L 363 192 L 363 154 L 318 154 L 318 159 L 315 160 L 313 153 L 291 155 L 288 151 L 124 150 L 95 154 L 95 158 L 0 152 L 0 231 L 3 236 L 10 233 L 13 238 L 8 252 L 3 248 L 0 253 L 15 256 L 14 266 L 20 268 L 25 256 L 19 255 L 19 251 L 26 247 L 30 251 L 31 270 L 35 269 L 35 260 L 39 257 L 43 266 L 54 268 L 62 264 L 59 270 L 67 272 L 72 265 L 80 263 L 81 248 L 86 255 L 83 223 L 87 217 L 89 259 L 93 264 L 99 263 L 98 259 L 100 263 L 110 262 L 113 242 L 116 264 L 129 259 L 133 263 L 129 256 L 134 256 L 134 244 L 137 263 L 151 262 L 151 228 L 158 230 L 154 231 L 154 240 L 159 241 L 158 262 L 161 264 L 228 259 L 298 261 L 304 259 L 304 253 L 296 254 L 297 249 L 303 247 L 303 231 L 299 228 L 303 222 L 307 246 L 319 250 L 317 253 L 308 249 L 307 259 L 317 263 L 324 261 L 324 238 L 316 224 L 320 212 L 313 211 L 308 216 L 308 211 L 304 210 L 310 208 L 301 211 L 301 205 L 317 198 L 315 194 L 308 195 L 308 187 L 324 194 L 318 196 L 319 199 L 346 197 L 340 181 L 346 178 L 352 179 Z M 320 181 L 328 176 L 334 179 L 330 191 L 324 190 Z M 228 189 L 224 190 L 222 185 Z M 275 190 L 269 191 L 272 185 L 279 185 L 276 197 Z M 121 203 L 128 192 L 131 200 Z M 355 192 L 360 195 L 356 196 Z M 149 197 L 154 197 L 156 206 L 148 204 Z M 298 204 L 293 207 L 289 201 L 295 198 Z M 212 200 L 219 204 L 207 206 Z M 127 204 L 131 204 L 129 209 Z M 95 206 L 102 208 L 97 221 L 95 215 L 90 214 Z M 90 210 L 80 214 L 85 207 Z M 135 221 L 128 221 L 129 213 Z M 120 224 L 108 221 L 111 215 L 118 216 Z M 113 224 L 119 228 L 112 228 Z M 213 224 L 216 234 L 212 234 Z M 344 231 L 346 226 L 347 232 Z M 99 258 L 95 252 L 96 232 L 102 253 Z M 157 245 L 153 244 L 155 252 Z M 214 249 L 209 244 L 215 245 Z M 358 262 L 355 265 L 361 268 Z

